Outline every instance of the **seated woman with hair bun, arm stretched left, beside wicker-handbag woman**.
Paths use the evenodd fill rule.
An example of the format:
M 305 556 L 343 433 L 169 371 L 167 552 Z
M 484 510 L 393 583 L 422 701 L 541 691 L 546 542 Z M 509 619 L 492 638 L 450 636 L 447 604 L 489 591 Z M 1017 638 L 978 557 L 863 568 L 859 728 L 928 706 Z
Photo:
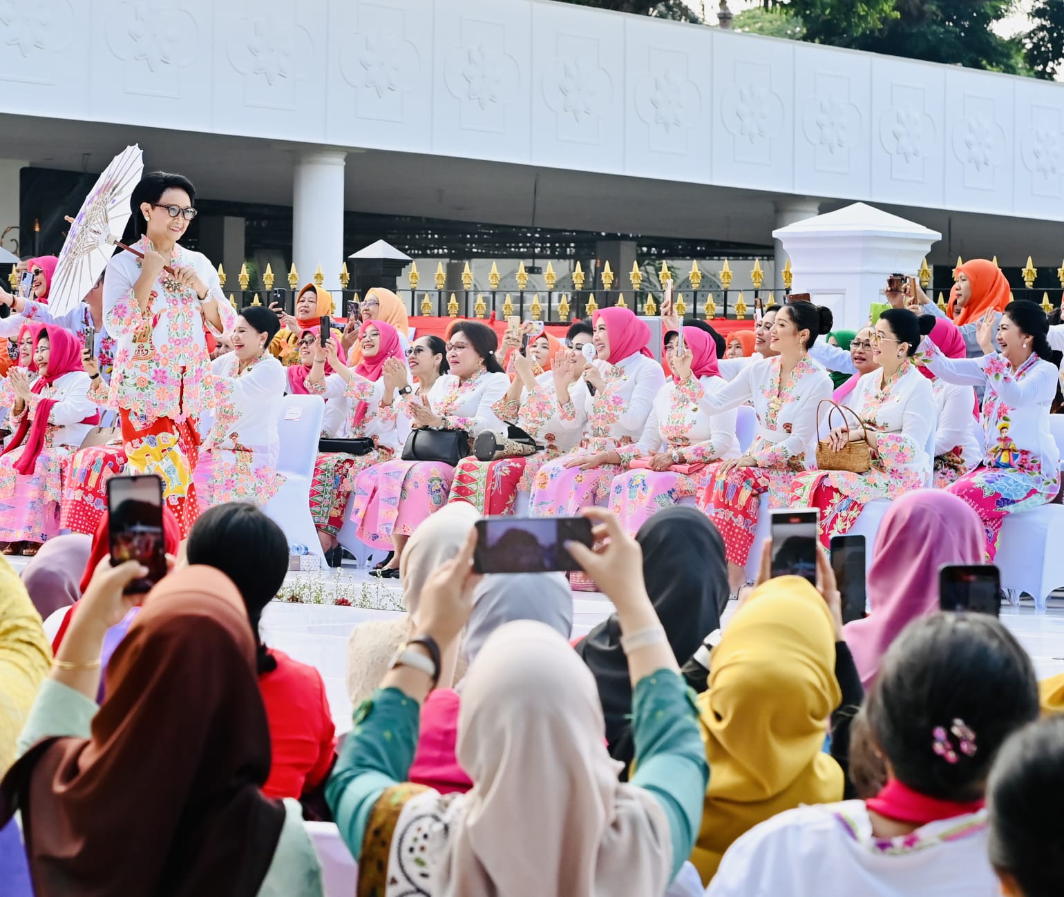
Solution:
M 785 508 L 795 475 L 804 471 L 816 450 L 816 408 L 831 397 L 831 378 L 809 357 L 818 336 L 831 331 L 831 310 L 811 302 L 792 302 L 776 315 L 769 335 L 771 358 L 751 361 L 730 384 L 705 393 L 699 409 L 718 414 L 750 403 L 758 433 L 741 458 L 718 464 L 703 480 L 696 501 L 725 539 L 732 592 L 746 581 L 761 494 L 769 506 Z M 681 365 L 689 353 L 678 353 Z

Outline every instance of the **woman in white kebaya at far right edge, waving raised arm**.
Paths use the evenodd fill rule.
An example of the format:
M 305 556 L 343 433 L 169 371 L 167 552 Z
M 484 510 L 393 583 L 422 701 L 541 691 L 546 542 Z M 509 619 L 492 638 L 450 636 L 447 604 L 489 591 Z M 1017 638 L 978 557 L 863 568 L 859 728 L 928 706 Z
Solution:
M 995 309 L 979 324 L 982 358 L 947 358 L 925 339 L 920 354 L 936 377 L 982 387 L 983 460 L 949 491 L 979 514 L 993 563 L 1004 515 L 1052 501 L 1060 488 L 1060 453 L 1049 430 L 1059 356 L 1047 340 L 1049 321 L 1033 302 L 1005 306 L 993 339 Z M 995 351 L 993 342 L 997 342 Z

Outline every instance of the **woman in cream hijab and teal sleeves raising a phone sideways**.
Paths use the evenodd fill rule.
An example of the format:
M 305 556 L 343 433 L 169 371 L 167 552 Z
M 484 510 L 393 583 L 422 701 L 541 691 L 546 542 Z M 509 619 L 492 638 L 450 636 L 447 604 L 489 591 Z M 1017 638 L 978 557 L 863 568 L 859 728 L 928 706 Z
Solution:
M 436 659 L 471 609 L 471 535 L 430 577 L 422 634 L 356 712 L 327 786 L 360 860 L 360 887 L 651 895 L 683 864 L 709 773 L 694 710 L 643 587 L 638 546 L 609 512 L 585 513 L 601 522 L 597 535 L 609 545 L 599 555 L 570 551 L 612 596 L 625 634 L 635 688 L 632 783 L 617 782 L 591 674 L 562 636 L 533 622 L 496 630 L 463 687 L 458 759 L 473 788 L 442 796 L 404 782 Z

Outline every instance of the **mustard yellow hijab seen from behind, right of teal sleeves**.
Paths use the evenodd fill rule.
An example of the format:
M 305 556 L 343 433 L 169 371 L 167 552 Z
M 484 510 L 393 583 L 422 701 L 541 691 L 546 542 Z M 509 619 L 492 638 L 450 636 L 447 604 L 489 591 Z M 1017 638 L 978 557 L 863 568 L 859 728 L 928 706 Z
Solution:
M 824 754 L 842 701 L 824 598 L 803 578 L 757 589 L 725 628 L 698 696 L 710 784 L 691 854 L 709 884 L 728 847 L 801 803 L 843 798 L 843 771 Z

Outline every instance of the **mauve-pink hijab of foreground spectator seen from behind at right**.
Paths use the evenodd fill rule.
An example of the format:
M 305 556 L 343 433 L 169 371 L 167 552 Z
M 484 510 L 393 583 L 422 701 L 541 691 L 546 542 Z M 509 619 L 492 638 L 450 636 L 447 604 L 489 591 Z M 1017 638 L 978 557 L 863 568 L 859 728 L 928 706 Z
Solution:
M 938 568 L 982 563 L 985 542 L 979 515 L 951 492 L 917 489 L 894 501 L 868 570 L 870 613 L 843 628 L 865 689 L 898 633 L 938 610 Z

